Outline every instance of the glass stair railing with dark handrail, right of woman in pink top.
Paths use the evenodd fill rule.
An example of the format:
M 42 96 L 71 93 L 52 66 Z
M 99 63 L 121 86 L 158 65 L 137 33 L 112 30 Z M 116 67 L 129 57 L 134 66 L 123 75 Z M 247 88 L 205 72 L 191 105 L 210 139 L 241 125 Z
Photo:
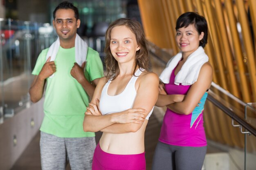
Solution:
M 225 148 L 228 168 L 253 170 L 256 167 L 253 161 L 256 160 L 255 104 L 244 103 L 212 83 L 204 118 L 207 139 L 217 142 L 217 148 Z

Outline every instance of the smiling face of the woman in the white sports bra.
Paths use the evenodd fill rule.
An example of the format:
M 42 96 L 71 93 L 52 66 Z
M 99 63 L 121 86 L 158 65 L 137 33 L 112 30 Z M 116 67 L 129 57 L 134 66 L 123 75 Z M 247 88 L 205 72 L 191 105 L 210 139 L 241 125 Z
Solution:
M 127 26 L 115 26 L 111 30 L 110 51 L 119 64 L 134 64 L 139 49 L 135 34 Z

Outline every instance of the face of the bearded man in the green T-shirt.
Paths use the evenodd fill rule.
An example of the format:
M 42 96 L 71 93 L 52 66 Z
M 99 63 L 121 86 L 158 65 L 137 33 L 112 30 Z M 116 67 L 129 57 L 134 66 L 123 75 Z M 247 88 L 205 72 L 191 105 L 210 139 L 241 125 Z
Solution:
M 58 9 L 53 25 L 60 38 L 60 42 L 73 43 L 76 38 L 76 29 L 80 26 L 80 20 L 76 20 L 72 9 Z

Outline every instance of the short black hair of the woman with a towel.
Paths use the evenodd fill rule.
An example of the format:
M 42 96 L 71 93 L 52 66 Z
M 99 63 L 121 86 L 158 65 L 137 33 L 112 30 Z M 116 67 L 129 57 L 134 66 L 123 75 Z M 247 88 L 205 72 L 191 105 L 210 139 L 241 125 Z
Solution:
M 176 31 L 182 27 L 187 27 L 190 24 L 193 24 L 195 26 L 195 29 L 198 31 L 199 34 L 202 32 L 204 33 L 204 37 L 202 40 L 200 40 L 199 45 L 204 47 L 207 44 L 207 38 L 208 38 L 208 26 L 207 21 L 205 18 L 201 15 L 198 15 L 198 13 L 194 12 L 186 12 L 180 15 L 180 17 L 176 21 Z

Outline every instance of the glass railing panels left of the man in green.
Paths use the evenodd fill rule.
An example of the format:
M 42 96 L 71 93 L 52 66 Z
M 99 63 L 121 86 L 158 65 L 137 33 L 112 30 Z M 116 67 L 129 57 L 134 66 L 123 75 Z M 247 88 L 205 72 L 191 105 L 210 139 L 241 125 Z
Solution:
M 16 20 L 0 21 L 0 123 L 30 104 L 31 69 L 42 49 L 54 42 L 52 26 Z

